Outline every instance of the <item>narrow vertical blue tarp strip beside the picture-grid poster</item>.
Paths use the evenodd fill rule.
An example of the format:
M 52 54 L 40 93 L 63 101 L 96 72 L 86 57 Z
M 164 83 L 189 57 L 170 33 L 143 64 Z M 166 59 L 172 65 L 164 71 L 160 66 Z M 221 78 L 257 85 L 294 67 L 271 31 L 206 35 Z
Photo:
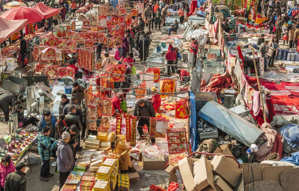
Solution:
M 195 96 L 192 91 L 190 91 L 190 144 L 191 152 L 197 150 L 199 145 L 199 136 L 196 131 L 196 109 L 195 109 Z

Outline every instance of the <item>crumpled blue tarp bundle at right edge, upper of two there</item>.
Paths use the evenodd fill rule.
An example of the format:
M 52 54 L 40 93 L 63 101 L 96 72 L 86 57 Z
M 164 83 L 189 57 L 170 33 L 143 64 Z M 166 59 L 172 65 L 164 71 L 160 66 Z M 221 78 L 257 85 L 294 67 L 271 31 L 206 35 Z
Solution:
M 284 142 L 295 149 L 299 149 L 299 125 L 288 124 L 280 129 Z

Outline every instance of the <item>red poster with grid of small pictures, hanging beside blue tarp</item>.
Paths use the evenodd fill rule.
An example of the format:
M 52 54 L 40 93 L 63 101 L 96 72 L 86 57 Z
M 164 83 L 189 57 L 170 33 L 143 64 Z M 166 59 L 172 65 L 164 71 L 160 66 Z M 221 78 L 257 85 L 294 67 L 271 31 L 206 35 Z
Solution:
M 188 152 L 185 128 L 167 129 L 166 135 L 169 154 L 179 154 Z

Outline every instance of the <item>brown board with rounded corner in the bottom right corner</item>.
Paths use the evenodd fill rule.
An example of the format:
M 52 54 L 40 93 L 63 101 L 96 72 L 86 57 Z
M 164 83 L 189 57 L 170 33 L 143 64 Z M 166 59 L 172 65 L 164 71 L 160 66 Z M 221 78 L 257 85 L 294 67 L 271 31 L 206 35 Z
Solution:
M 280 174 L 281 186 L 284 191 L 298 190 L 299 168 L 288 169 Z

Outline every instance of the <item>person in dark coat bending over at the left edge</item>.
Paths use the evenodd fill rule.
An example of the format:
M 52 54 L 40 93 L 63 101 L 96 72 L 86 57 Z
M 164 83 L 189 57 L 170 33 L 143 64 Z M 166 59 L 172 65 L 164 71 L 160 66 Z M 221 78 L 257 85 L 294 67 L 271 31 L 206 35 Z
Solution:
M 4 113 L 4 120 L 9 120 L 9 107 L 15 106 L 15 96 L 11 93 L 0 94 L 0 108 Z

